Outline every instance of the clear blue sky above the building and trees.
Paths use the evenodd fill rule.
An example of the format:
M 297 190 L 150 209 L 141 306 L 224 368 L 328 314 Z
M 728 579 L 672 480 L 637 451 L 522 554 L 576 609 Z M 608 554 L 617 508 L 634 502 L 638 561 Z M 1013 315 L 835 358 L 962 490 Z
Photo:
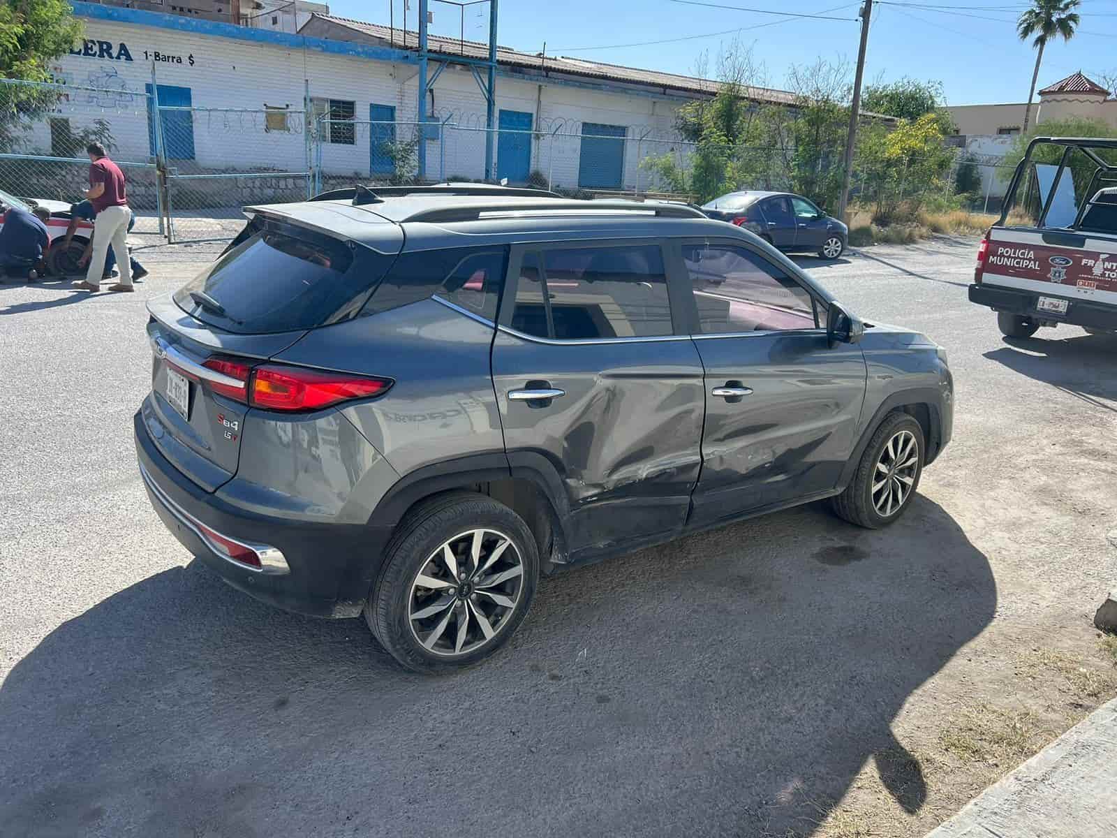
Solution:
M 376 23 L 388 22 L 389 2 L 393 2 L 395 25 L 400 26 L 404 0 L 327 2 L 334 15 Z M 407 19 L 409 28 L 414 29 L 419 2 L 408 2 L 411 8 Z M 713 59 L 718 47 L 732 40 L 739 27 L 741 41 L 753 45 L 754 57 L 764 65 L 767 82 L 773 87 L 783 86 L 792 64 L 810 64 L 820 56 L 846 59 L 850 64 L 857 58 L 857 2 L 708 2 L 803 15 L 825 13 L 842 19 L 780 18 L 677 0 L 502 0 L 498 41 L 527 51 L 541 50 L 546 41 L 548 55 L 691 73 L 703 50 L 708 50 Z M 431 31 L 457 36 L 461 22 L 458 7 L 431 0 L 430 8 L 435 13 Z M 1024 102 L 1035 61 L 1031 46 L 1015 36 L 1014 20 L 1024 8 L 1021 0 L 903 0 L 892 3 L 875 0 L 866 78 L 936 79 L 943 83 L 952 105 Z M 485 3 L 466 8 L 466 38 L 485 40 L 487 13 Z M 1077 69 L 1097 80 L 1100 80 L 1099 74 L 1117 75 L 1117 50 L 1114 49 L 1117 45 L 1117 0 L 1083 0 L 1080 13 L 1080 34 L 1073 40 L 1048 45 L 1040 68 L 1040 87 Z M 693 37 L 712 32 L 727 34 Z M 674 40 L 679 38 L 688 39 Z M 658 40 L 670 42 L 624 46 Z

